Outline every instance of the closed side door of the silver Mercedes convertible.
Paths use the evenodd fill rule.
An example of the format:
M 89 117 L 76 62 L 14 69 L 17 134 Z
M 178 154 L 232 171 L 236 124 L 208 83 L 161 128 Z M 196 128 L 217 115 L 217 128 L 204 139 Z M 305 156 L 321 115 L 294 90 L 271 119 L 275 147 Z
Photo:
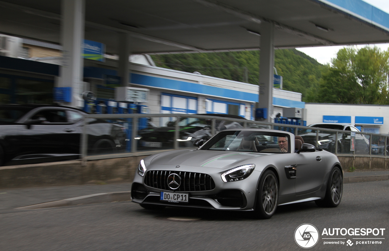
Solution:
M 314 192 L 323 184 L 326 169 L 323 152 L 293 153 L 296 159 L 296 195 Z

